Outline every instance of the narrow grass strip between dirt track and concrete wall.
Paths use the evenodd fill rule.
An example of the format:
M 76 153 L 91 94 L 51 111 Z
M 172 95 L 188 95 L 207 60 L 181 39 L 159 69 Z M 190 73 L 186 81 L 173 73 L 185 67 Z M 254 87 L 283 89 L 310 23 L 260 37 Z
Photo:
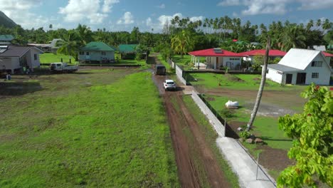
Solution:
M 201 132 L 204 133 L 206 142 L 213 150 L 213 153 L 218 160 L 218 164 L 223 170 L 223 173 L 226 175 L 227 181 L 231 184 L 231 187 L 239 187 L 238 177 L 235 173 L 233 173 L 233 170 L 229 166 L 228 162 L 223 158 L 220 150 L 216 145 L 217 135 L 215 130 L 213 130 L 213 127 L 211 127 L 211 124 L 208 122 L 206 116 L 201 113 L 201 110 L 198 108 L 198 106 L 194 103 L 193 99 L 189 95 L 184 95 L 183 99 L 187 108 L 190 110 L 191 115 L 193 115 L 196 122 L 198 122 L 201 126 Z

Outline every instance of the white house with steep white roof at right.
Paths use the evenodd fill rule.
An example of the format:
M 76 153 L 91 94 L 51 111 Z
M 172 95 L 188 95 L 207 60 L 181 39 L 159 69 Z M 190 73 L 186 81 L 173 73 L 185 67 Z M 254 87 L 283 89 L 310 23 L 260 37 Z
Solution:
M 267 78 L 282 84 L 329 85 L 331 73 L 321 51 L 291 48 L 279 63 L 268 65 Z

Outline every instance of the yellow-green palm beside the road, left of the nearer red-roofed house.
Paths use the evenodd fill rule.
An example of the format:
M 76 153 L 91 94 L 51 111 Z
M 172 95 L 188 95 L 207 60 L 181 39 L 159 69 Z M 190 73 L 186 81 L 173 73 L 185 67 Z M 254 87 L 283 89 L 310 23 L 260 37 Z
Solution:
M 184 54 L 193 48 L 189 32 L 182 30 L 171 38 L 171 48 L 175 53 L 180 53 L 181 58 L 183 58 Z

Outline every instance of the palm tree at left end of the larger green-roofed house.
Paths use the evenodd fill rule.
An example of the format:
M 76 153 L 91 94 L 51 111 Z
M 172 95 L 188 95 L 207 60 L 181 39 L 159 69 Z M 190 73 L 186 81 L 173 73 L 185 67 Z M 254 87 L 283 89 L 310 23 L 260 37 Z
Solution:
M 78 60 L 78 50 L 80 43 L 80 37 L 78 33 L 73 30 L 68 31 L 68 33 L 63 36 L 63 40 L 57 41 L 56 46 L 59 46 L 57 53 L 63 53 L 68 56 L 75 57 Z

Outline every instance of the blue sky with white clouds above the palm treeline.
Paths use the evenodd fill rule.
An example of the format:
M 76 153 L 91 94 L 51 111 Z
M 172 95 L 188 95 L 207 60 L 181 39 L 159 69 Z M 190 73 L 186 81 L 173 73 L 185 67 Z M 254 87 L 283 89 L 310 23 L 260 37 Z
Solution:
M 0 10 L 23 28 L 75 28 L 78 23 L 93 30 L 162 30 L 178 15 L 191 20 L 229 16 L 253 24 L 310 19 L 333 21 L 333 0 L 0 0 Z

